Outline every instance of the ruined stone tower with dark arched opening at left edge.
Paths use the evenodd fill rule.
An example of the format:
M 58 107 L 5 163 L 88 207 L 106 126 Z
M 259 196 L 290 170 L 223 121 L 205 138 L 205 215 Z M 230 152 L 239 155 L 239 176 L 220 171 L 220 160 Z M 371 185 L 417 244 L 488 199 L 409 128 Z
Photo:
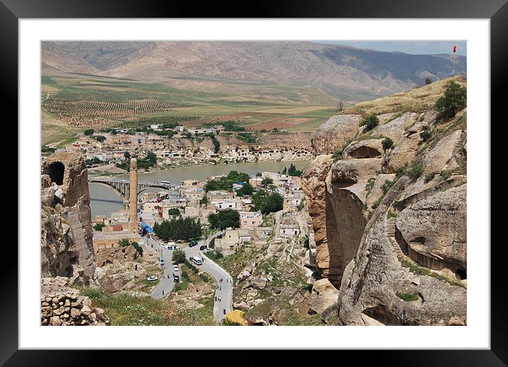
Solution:
M 42 164 L 41 264 L 43 274 L 96 281 L 87 167 L 78 154 L 57 153 Z M 75 265 L 79 266 L 76 268 Z M 73 269 L 82 269 L 75 278 Z

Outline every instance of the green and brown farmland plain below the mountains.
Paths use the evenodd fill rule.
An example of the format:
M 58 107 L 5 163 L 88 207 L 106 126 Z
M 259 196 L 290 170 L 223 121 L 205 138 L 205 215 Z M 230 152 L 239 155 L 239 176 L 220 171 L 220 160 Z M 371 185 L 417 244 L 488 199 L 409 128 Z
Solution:
M 224 93 L 228 87 L 231 87 L 231 92 Z M 46 103 L 57 100 L 126 103 L 151 98 L 185 106 L 158 113 L 133 113 L 121 117 L 112 115 L 104 123 L 111 126 L 139 118 L 172 116 L 181 117 L 182 120 L 191 118 L 196 123 L 203 119 L 237 120 L 248 130 L 279 128 L 314 131 L 336 112 L 333 97 L 309 86 L 223 81 L 217 90 L 216 93 L 210 93 L 130 79 L 60 72 L 47 74 L 41 79 L 41 101 Z M 250 125 L 253 126 L 249 128 Z M 85 128 L 70 125 L 61 116 L 48 113 L 43 108 L 43 144 L 67 140 Z

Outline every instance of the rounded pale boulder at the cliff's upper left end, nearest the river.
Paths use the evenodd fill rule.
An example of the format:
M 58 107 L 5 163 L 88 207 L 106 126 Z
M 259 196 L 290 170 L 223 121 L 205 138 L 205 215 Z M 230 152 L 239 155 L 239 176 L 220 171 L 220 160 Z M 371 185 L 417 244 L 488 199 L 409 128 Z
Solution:
M 361 115 L 336 115 L 319 127 L 311 139 L 314 154 L 333 154 L 358 132 Z

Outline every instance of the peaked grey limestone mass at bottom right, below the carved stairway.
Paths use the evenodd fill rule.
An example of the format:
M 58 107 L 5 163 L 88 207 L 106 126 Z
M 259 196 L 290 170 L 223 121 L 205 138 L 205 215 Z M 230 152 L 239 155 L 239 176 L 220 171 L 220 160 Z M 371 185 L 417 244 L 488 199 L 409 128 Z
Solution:
M 397 293 L 417 295 L 408 301 Z M 357 259 L 348 264 L 339 294 L 342 324 L 385 325 L 465 324 L 465 288 L 401 266 L 380 216 L 365 233 Z M 366 319 L 364 315 L 370 319 Z

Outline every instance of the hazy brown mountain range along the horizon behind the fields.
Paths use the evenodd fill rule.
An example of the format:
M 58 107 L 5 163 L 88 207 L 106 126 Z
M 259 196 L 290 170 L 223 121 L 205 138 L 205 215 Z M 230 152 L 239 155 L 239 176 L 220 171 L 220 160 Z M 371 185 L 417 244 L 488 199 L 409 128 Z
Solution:
M 42 43 L 43 74 L 73 72 L 227 92 L 228 84 L 313 86 L 362 101 L 451 76 L 451 55 L 409 55 L 292 41 Z M 455 57 L 455 74 L 466 57 Z

